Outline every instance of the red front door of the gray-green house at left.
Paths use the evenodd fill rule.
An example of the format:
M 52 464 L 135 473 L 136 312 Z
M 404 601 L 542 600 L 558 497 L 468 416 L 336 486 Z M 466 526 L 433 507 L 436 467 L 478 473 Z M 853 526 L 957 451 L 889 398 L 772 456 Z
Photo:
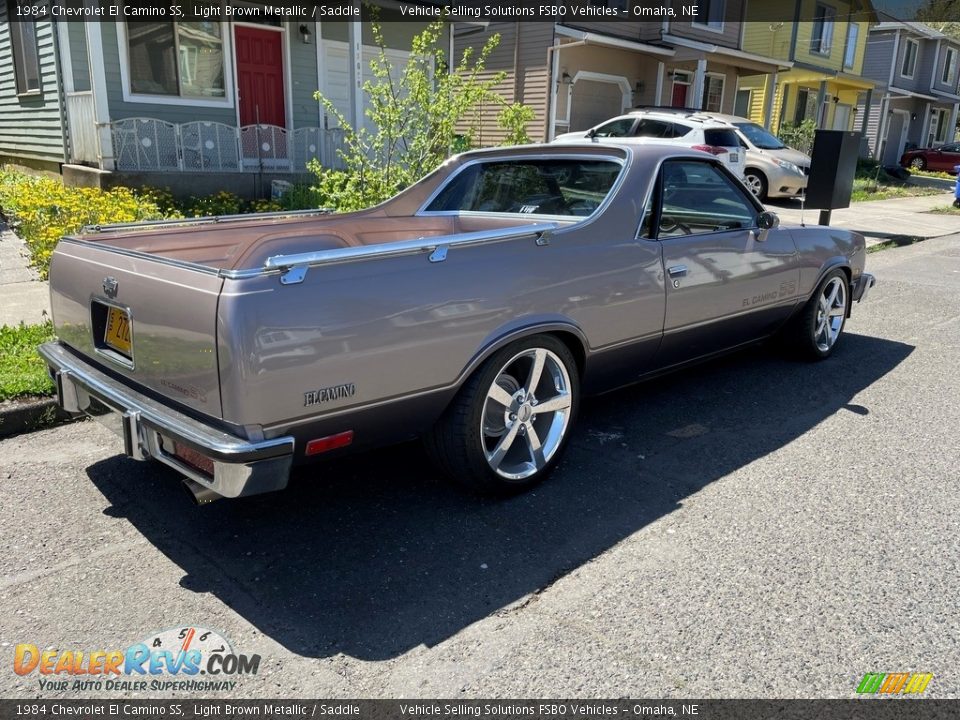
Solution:
M 237 92 L 240 124 L 286 127 L 283 109 L 283 33 L 237 27 Z

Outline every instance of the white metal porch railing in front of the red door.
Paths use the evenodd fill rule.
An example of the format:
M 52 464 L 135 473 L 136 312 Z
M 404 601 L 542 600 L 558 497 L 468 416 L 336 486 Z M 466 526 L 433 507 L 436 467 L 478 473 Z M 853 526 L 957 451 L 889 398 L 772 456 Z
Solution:
M 137 172 L 291 172 L 310 160 L 341 167 L 343 131 L 126 118 L 110 123 L 117 170 Z

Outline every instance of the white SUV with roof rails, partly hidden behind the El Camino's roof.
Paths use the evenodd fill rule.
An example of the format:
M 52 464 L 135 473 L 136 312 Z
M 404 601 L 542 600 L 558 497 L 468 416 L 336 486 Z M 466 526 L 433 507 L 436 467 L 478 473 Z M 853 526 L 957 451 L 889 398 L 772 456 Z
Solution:
M 717 156 L 743 178 L 745 153 L 732 125 L 695 111 L 632 110 L 589 130 L 565 133 L 553 142 L 667 143 Z

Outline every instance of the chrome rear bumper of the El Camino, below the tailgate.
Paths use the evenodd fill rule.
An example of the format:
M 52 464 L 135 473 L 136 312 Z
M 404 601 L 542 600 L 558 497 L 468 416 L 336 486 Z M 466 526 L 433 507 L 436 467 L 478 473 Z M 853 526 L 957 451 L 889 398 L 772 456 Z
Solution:
M 74 355 L 59 342 L 40 346 L 61 407 L 85 413 L 123 439 L 135 460 L 159 460 L 224 497 L 256 495 L 287 486 L 291 437 L 254 442 L 231 435 L 138 393 Z M 173 454 L 173 443 L 213 461 L 213 477 Z

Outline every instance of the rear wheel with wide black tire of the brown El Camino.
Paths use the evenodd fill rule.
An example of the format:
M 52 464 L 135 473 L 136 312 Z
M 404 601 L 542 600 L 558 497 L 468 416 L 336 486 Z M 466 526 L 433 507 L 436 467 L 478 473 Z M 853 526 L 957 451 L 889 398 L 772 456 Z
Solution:
M 541 351 L 543 371 L 531 398 L 526 394 L 527 386 Z M 526 377 L 517 379 L 516 375 Z M 566 387 L 562 388 L 563 385 Z M 502 397 L 512 399 L 511 405 L 490 397 L 501 390 L 505 393 Z M 518 402 L 518 398 L 524 402 Z M 565 409 L 536 409 L 568 400 Z M 579 400 L 577 363 L 567 346 L 552 335 L 524 338 L 495 352 L 470 376 L 424 437 L 424 445 L 444 474 L 469 490 L 488 495 L 521 492 L 542 481 L 556 466 L 570 437 Z M 527 428 L 533 430 L 527 432 Z M 507 437 L 511 434 L 512 439 Z M 549 447 L 544 438 L 550 441 Z M 488 457 L 492 452 L 496 458 L 495 451 L 506 440 L 509 450 L 497 461 L 495 469 Z M 541 452 L 535 457 L 534 445 L 541 443 Z M 538 464 L 538 459 L 543 463 Z M 511 474 L 522 477 L 507 477 Z

